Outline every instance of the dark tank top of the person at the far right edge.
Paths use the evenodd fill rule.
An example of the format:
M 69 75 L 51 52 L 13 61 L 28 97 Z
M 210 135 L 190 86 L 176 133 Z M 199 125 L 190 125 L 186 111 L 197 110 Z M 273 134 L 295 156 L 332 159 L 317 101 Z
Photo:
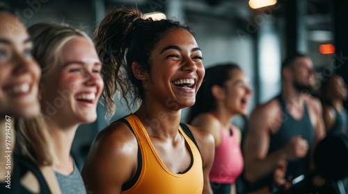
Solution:
M 348 135 L 348 116 L 346 110 L 343 109 L 342 113 L 340 113 L 333 105 L 331 105 L 331 107 L 335 111 L 335 123 L 333 123 L 329 134 Z

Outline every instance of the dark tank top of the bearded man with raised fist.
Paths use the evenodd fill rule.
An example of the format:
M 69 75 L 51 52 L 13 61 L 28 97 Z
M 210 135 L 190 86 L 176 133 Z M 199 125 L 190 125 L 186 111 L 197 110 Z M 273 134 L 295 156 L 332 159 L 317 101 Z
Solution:
M 313 143 L 315 138 L 315 131 L 312 123 L 310 122 L 310 116 L 308 114 L 308 108 L 306 103 L 303 103 L 304 113 L 301 119 L 296 120 L 287 111 L 285 101 L 281 95 L 277 96 L 280 103 L 280 108 L 282 110 L 282 124 L 276 132 L 276 134 L 271 134 L 269 141 L 269 153 L 274 152 L 280 148 L 283 148 L 293 136 L 301 135 L 303 139 L 308 141 L 308 145 Z M 290 179 L 294 179 L 299 175 L 308 173 L 310 169 L 310 152 L 308 155 L 301 159 L 296 159 L 294 161 L 287 161 L 287 172 L 286 176 Z

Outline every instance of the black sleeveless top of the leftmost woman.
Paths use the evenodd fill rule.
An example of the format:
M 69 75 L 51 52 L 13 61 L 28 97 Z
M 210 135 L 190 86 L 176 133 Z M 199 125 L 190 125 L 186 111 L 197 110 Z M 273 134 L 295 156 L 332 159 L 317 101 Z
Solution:
M 26 173 L 29 171 L 33 173 L 33 175 L 38 179 L 38 183 L 40 184 L 40 193 L 49 194 L 49 186 L 45 181 L 45 177 L 43 177 L 40 169 L 33 161 L 26 159 L 25 157 L 21 157 L 19 155 L 12 155 L 13 157 L 13 169 L 11 169 L 10 179 L 6 178 L 5 182 L 0 183 L 0 193 L 8 193 L 8 194 L 31 194 L 31 191 L 27 190 L 22 184 L 20 180 Z M 9 181 L 9 182 L 7 182 Z M 6 187 L 10 183 L 10 188 Z

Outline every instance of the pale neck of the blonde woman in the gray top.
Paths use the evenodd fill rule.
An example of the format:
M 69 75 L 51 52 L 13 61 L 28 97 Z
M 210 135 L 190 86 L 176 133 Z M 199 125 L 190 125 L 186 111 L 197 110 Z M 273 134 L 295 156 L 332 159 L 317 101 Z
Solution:
M 54 141 L 54 170 L 69 175 L 74 170 L 70 150 L 78 125 L 60 125 L 52 118 L 46 120 L 49 133 Z

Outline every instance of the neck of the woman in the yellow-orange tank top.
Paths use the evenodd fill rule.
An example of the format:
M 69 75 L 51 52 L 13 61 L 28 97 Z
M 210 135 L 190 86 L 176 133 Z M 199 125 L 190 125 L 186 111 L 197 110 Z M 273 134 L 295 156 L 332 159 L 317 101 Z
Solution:
M 181 109 L 168 111 L 157 108 L 156 105 L 142 103 L 134 113 L 143 123 L 150 136 L 157 138 L 171 138 L 178 134 L 180 125 Z

